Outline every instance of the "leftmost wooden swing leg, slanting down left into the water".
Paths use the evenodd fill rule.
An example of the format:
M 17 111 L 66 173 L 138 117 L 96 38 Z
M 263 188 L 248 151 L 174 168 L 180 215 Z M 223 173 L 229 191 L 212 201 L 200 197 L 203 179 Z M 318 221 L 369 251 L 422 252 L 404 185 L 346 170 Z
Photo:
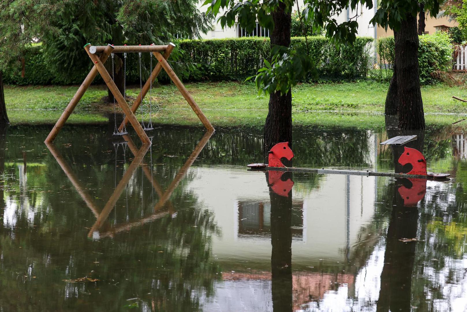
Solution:
M 112 50 L 113 50 L 112 45 L 108 44 L 106 46 L 106 49 L 104 50 L 104 52 L 102 52 L 102 55 L 100 56 L 100 61 L 102 63 L 106 62 L 106 60 L 109 57 L 110 53 L 112 53 Z M 88 73 L 85 80 L 81 84 L 81 86 L 79 86 L 78 90 L 76 91 L 75 95 L 71 99 L 70 103 L 68 103 L 66 109 L 62 113 L 62 116 L 60 116 L 60 118 L 58 118 L 57 123 L 52 128 L 52 130 L 50 131 L 49 136 L 47 136 L 47 138 L 45 139 L 45 141 L 44 141 L 45 143 L 53 142 L 53 140 L 57 137 L 58 132 L 60 132 L 60 130 L 62 130 L 62 127 L 66 123 L 68 117 L 70 117 L 71 113 L 75 109 L 75 107 L 78 104 L 79 100 L 81 100 L 81 97 L 83 96 L 83 94 L 85 94 L 87 88 L 91 85 L 92 80 L 94 80 L 94 78 L 96 78 L 98 73 L 99 72 L 98 72 L 96 66 L 93 66 L 91 68 L 91 71 Z

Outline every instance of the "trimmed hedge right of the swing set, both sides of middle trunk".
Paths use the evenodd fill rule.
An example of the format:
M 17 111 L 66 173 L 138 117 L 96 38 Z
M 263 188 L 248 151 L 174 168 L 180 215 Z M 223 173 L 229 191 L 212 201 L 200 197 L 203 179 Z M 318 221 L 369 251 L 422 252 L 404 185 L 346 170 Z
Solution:
M 304 37 L 293 37 L 305 51 Z M 367 77 L 373 38 L 358 37 L 353 45 L 336 48 L 323 36 L 308 37 L 308 50 L 320 79 L 347 80 Z M 269 57 L 269 38 L 183 40 L 179 62 L 186 65 L 183 78 L 190 81 L 244 80 L 254 75 Z

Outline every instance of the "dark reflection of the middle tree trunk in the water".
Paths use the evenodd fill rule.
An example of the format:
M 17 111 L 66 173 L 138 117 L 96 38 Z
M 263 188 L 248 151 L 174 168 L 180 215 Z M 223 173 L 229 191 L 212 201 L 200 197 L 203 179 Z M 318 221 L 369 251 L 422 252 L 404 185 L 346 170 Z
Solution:
M 281 196 L 269 188 L 269 198 L 272 308 L 274 312 L 292 312 L 292 191 Z

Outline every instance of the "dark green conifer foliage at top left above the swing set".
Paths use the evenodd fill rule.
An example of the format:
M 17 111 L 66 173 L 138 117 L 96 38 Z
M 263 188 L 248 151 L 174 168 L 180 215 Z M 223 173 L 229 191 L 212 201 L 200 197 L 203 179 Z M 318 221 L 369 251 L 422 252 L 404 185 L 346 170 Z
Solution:
M 20 66 L 31 40 L 39 38 L 44 62 L 37 75 L 46 74 L 37 82 L 26 80 L 80 83 L 92 66 L 82 48 L 86 43 L 166 44 L 175 35 L 197 38 L 211 22 L 211 15 L 199 12 L 197 0 L 11 0 L 0 4 L 0 68 Z M 131 55 L 131 61 L 135 58 Z

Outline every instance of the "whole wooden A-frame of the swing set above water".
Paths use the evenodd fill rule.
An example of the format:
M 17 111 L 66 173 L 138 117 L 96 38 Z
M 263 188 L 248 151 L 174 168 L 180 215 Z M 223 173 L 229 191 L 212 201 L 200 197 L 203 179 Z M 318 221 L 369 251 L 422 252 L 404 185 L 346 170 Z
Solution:
M 112 92 L 113 97 L 115 98 L 118 105 L 125 113 L 125 119 L 122 121 L 122 123 L 120 124 L 120 127 L 118 128 L 119 132 L 121 132 L 124 126 L 126 126 L 128 123 L 131 123 L 134 130 L 138 134 L 138 137 L 140 137 L 142 143 L 143 144 L 151 143 L 148 135 L 142 128 L 142 125 L 136 119 L 136 116 L 134 115 L 134 113 L 136 112 L 138 107 L 141 105 L 142 99 L 144 99 L 144 97 L 149 91 L 149 87 L 152 85 L 152 83 L 154 83 L 154 80 L 156 80 L 157 76 L 159 75 L 162 69 L 164 69 L 164 71 L 170 77 L 170 80 L 172 80 L 172 82 L 175 84 L 177 89 L 183 95 L 186 102 L 188 102 L 191 109 L 193 109 L 193 111 L 196 113 L 196 115 L 198 116 L 199 120 L 203 123 L 205 128 L 208 131 L 214 131 L 214 127 L 212 126 L 212 124 L 203 114 L 201 109 L 198 107 L 198 104 L 196 104 L 196 102 L 193 100 L 193 98 L 191 97 L 191 94 L 188 92 L 188 90 L 183 85 L 182 81 L 180 81 L 180 79 L 177 77 L 177 75 L 174 73 L 173 69 L 170 67 L 169 63 L 167 62 L 167 59 L 170 57 L 170 54 L 172 53 L 174 48 L 175 48 L 175 44 L 173 43 L 170 43 L 168 45 L 115 45 L 115 46 L 113 46 L 112 44 L 107 44 L 106 46 L 105 45 L 104 46 L 93 46 L 91 44 L 86 44 L 84 46 L 84 49 L 86 53 L 88 54 L 89 58 L 91 58 L 94 66 L 92 67 L 88 75 L 86 76 L 81 86 L 76 91 L 70 103 L 68 103 L 67 107 L 62 113 L 62 116 L 60 116 L 60 118 L 57 120 L 57 123 L 55 123 L 55 126 L 50 131 L 44 143 L 51 143 L 54 141 L 55 138 L 57 138 L 58 133 L 60 132 L 60 130 L 62 130 L 64 124 L 68 120 L 68 117 L 70 117 L 71 113 L 73 112 L 75 107 L 78 105 L 79 100 L 81 100 L 81 97 L 83 96 L 83 94 L 85 94 L 86 90 L 91 85 L 92 80 L 96 78 L 98 73 L 102 76 L 102 79 L 104 79 L 104 82 L 106 83 L 107 87 Z M 120 93 L 120 90 L 118 89 L 118 87 L 113 82 L 112 77 L 107 72 L 106 68 L 104 67 L 104 63 L 106 62 L 107 58 L 110 56 L 111 53 L 123 53 L 123 52 L 151 52 L 158 60 L 158 63 L 154 67 L 154 70 L 152 71 L 152 73 L 149 75 L 148 80 L 142 87 L 140 94 L 138 94 L 138 96 L 134 100 L 131 108 L 128 105 L 125 98 L 123 97 L 123 95 Z M 100 53 L 100 56 L 98 56 L 98 53 Z

